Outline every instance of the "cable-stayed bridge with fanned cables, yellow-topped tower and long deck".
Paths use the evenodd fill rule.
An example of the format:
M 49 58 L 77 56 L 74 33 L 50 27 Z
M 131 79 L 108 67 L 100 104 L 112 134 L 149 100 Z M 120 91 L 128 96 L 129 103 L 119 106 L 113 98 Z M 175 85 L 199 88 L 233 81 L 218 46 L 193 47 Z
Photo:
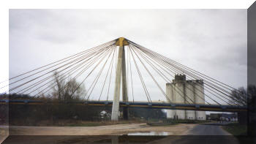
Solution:
M 67 91 L 74 80 L 78 83 Z M 61 83 L 64 87 L 60 88 Z M 246 111 L 246 96 L 241 91 L 123 37 L 10 77 L 0 85 L 1 103 L 44 104 L 38 99 L 6 98 L 26 94 L 56 99 L 58 94 L 53 91 L 57 88 L 59 95 L 66 91 L 64 96 L 83 99 L 71 103 L 112 106 L 114 121 L 119 107 L 124 107 L 126 116 L 128 107 Z M 86 93 L 82 94 L 84 86 Z

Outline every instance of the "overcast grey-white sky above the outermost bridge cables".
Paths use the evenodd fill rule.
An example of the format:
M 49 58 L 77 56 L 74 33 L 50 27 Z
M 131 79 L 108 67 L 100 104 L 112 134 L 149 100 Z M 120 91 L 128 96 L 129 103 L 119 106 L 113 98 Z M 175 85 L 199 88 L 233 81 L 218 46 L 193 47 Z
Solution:
M 10 77 L 118 37 L 246 86 L 246 10 L 10 10 Z

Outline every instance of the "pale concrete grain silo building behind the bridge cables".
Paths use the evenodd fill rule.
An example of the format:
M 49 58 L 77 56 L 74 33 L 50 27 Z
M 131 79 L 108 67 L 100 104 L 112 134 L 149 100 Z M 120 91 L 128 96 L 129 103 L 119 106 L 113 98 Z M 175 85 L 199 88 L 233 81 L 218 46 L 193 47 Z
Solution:
M 183 104 L 205 104 L 203 80 L 186 80 L 186 75 L 175 75 L 172 83 L 166 83 L 167 101 Z M 206 120 L 205 111 L 167 110 L 167 118 Z

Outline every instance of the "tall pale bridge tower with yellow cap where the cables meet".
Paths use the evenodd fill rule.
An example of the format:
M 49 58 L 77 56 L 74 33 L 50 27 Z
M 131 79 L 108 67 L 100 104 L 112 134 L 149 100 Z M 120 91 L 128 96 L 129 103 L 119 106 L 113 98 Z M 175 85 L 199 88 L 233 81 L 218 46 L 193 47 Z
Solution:
M 114 98 L 113 98 L 113 105 L 112 105 L 112 114 L 111 114 L 112 121 L 118 121 L 121 84 L 122 84 L 123 102 L 128 102 L 127 74 L 126 74 L 125 51 L 124 51 L 125 45 L 128 45 L 128 41 L 127 39 L 124 39 L 124 37 L 120 37 L 116 40 L 116 46 L 119 46 L 119 49 L 118 49 L 118 60 L 117 60 L 117 67 L 116 67 L 116 82 L 115 82 Z M 121 80 L 122 80 L 122 83 L 121 83 Z M 124 107 L 123 109 L 124 119 L 128 119 L 128 113 L 129 113 L 128 107 Z

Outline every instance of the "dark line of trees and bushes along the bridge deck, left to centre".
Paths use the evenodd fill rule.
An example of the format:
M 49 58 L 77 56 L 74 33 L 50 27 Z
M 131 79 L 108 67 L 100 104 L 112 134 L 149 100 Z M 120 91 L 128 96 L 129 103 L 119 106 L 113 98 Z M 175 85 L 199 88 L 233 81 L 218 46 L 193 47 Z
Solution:
M 51 101 L 42 105 L 10 105 L 9 107 L 0 106 L 2 119 L 1 124 L 7 122 L 9 118 L 10 125 L 55 125 L 61 122 L 73 123 L 75 121 L 110 121 L 110 118 L 102 118 L 100 113 L 104 110 L 111 113 L 112 107 L 97 107 L 89 105 L 77 105 L 72 102 L 83 102 L 86 95 L 86 88 L 75 79 L 68 78 L 61 80 L 59 72 L 53 74 L 55 85 L 49 94 L 39 96 L 29 96 L 27 94 L 4 94 L 1 99 L 40 99 Z M 122 108 L 120 108 L 122 113 Z M 8 117 L 8 118 L 7 118 Z M 153 110 L 146 108 L 129 108 L 129 119 L 148 119 L 164 118 L 165 113 L 162 110 Z M 5 122 L 4 122 L 5 120 Z

